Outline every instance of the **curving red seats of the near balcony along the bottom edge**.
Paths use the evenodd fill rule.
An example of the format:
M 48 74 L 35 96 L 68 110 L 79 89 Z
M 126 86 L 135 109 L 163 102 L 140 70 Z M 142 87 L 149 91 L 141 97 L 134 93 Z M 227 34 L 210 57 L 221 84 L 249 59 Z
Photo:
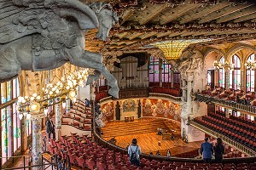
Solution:
M 150 161 L 145 158 L 141 159 L 141 166 L 136 167 L 131 165 L 127 155 L 105 149 L 92 142 L 86 136 L 79 137 L 72 134 L 72 137 L 62 136 L 61 141 L 51 142 L 53 146 L 55 145 L 55 153 L 61 154 L 60 150 L 67 150 L 67 156 L 69 156 L 70 162 L 73 165 L 81 168 L 87 167 L 90 170 L 95 168 L 98 170 L 256 170 L 256 162 L 237 165 L 234 163 L 206 164 L 178 161 Z M 51 153 L 54 154 L 54 151 L 51 151 Z M 62 156 L 65 157 L 65 153 Z

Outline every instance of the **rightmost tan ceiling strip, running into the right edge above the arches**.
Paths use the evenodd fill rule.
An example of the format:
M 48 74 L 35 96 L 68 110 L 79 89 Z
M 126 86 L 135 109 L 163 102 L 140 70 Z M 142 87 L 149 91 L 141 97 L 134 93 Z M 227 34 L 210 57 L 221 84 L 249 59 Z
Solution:
M 244 8 L 241 11 L 236 12 L 235 14 L 228 14 L 224 17 L 221 17 L 217 20 L 217 23 L 226 22 L 229 20 L 239 19 L 240 17 L 247 16 L 248 14 L 254 14 L 256 17 L 256 6 L 253 5 L 248 8 Z

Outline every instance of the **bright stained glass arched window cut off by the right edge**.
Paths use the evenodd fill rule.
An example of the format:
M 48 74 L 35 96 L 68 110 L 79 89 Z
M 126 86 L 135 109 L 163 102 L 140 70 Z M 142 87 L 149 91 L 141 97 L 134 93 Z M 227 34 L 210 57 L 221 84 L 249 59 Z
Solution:
M 251 54 L 247 61 L 255 61 L 255 54 Z M 246 78 L 246 87 L 247 91 L 255 92 L 255 71 L 252 71 L 250 69 L 247 69 L 247 78 Z

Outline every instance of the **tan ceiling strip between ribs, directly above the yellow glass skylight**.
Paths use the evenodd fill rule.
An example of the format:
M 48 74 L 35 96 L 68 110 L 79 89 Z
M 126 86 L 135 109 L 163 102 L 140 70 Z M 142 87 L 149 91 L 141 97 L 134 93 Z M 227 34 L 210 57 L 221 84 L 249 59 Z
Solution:
M 170 12 L 167 12 L 161 17 L 160 25 L 165 25 L 172 20 L 176 20 L 178 17 L 197 7 L 200 7 L 199 3 L 186 3 L 184 5 L 179 5 L 176 8 L 172 8 Z

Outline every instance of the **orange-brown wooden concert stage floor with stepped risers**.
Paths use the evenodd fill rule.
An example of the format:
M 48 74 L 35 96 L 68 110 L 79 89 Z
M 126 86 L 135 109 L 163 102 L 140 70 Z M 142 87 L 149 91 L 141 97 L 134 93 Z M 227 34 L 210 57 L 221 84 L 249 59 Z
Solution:
M 163 135 L 157 134 L 157 128 L 164 128 L 167 131 L 164 132 L 172 134 L 174 139 L 163 139 Z M 166 156 L 166 151 L 170 149 L 172 156 L 198 155 L 198 149 L 203 141 L 185 143 L 181 139 L 180 128 L 179 122 L 160 118 L 141 118 L 134 122 L 106 122 L 105 127 L 102 127 L 102 138 L 108 141 L 114 137 L 115 144 L 122 148 L 126 148 L 128 144 L 131 144 L 131 140 L 136 138 L 145 154 L 153 152 L 155 155 L 156 151 L 160 150 L 161 156 Z

